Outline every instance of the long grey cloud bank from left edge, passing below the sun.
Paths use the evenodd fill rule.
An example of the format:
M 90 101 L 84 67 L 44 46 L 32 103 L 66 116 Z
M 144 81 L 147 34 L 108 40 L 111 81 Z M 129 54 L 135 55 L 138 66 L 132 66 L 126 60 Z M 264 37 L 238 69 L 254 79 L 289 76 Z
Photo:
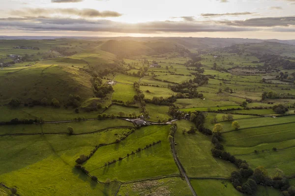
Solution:
M 148 22 L 138 24 L 118 23 L 109 20 L 34 18 L 29 21 L 1 20 L 0 29 L 42 30 L 42 31 L 108 31 L 123 33 L 156 33 L 156 32 L 219 32 L 249 31 L 254 28 L 231 27 L 209 24 L 207 22 Z

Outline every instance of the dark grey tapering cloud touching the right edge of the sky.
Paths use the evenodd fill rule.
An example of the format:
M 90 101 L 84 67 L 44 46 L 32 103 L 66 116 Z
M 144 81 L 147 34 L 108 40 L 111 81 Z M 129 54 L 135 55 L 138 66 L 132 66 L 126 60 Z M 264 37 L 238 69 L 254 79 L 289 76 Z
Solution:
M 252 18 L 243 21 L 218 21 L 217 23 L 235 27 L 288 27 L 295 25 L 295 17 Z

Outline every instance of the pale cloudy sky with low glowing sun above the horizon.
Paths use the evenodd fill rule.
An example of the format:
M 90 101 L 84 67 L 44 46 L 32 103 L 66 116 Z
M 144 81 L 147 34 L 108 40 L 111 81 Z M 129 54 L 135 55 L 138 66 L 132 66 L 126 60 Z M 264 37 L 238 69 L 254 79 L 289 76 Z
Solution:
M 295 39 L 295 0 L 0 0 L 0 35 Z

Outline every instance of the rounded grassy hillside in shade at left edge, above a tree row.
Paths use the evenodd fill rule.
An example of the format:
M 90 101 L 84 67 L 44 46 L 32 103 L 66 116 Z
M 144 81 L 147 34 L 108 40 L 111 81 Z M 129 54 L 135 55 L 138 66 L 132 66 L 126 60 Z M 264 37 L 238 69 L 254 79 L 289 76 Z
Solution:
M 14 72 L 0 72 L 0 103 L 12 98 L 21 102 L 53 98 L 64 102 L 69 94 L 82 99 L 92 97 L 91 76 L 79 68 L 64 65 L 44 65 L 42 62 Z

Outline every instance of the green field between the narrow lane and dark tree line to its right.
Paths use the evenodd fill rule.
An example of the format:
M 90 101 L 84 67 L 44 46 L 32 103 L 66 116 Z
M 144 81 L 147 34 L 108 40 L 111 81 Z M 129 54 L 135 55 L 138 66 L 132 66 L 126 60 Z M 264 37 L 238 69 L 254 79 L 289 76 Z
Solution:
M 193 123 L 181 120 L 177 121 L 177 156 L 189 177 L 229 177 L 230 173 L 236 170 L 236 166 L 215 159 L 211 155 L 211 137 L 199 132 L 194 135 L 182 134 L 182 130 L 190 128 Z M 194 150 L 190 150 L 194 149 Z

